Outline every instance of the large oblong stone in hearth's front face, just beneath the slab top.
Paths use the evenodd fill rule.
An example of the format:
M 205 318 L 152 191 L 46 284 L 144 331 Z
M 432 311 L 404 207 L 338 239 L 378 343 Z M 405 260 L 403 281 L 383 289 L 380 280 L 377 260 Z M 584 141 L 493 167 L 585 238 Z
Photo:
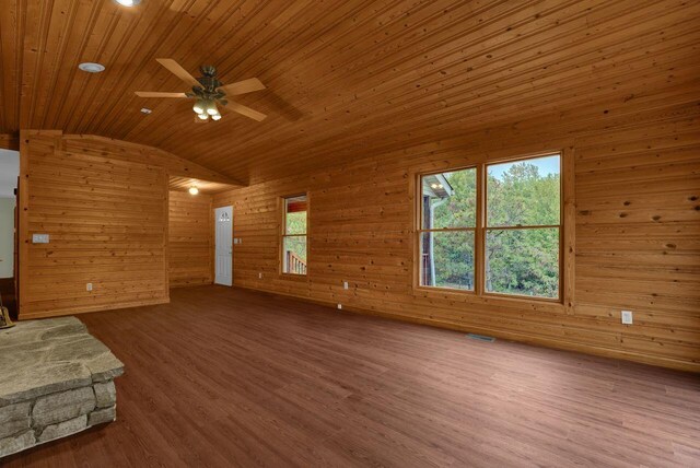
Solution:
M 36 400 L 32 411 L 34 426 L 44 426 L 86 414 L 95 409 L 92 387 L 47 395 Z

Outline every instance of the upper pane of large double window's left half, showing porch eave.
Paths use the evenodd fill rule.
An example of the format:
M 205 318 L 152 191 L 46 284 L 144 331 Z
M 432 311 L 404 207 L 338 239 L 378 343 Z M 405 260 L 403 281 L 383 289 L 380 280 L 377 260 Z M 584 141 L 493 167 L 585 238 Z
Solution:
M 421 229 L 476 226 L 476 168 L 422 176 L 421 185 Z

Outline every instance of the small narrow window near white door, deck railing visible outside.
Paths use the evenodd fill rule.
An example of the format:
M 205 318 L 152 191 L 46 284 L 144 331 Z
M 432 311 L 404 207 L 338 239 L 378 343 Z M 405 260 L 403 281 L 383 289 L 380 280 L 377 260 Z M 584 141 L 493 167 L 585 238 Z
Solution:
M 282 273 L 306 274 L 307 213 L 305 195 L 284 199 Z

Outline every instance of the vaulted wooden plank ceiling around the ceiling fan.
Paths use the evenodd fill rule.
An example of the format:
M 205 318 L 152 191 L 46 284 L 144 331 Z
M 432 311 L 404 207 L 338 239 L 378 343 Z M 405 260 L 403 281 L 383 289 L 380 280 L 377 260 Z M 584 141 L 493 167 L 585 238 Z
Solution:
M 699 17 L 672 0 L 7 0 L 0 132 L 122 139 L 256 183 L 697 82 Z M 160 57 L 258 77 L 238 101 L 268 118 L 196 125 L 190 102 L 137 97 L 186 90 Z

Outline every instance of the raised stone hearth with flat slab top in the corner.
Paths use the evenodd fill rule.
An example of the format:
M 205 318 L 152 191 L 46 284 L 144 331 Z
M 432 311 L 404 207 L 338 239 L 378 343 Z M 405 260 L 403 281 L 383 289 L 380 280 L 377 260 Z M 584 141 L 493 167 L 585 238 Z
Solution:
M 0 330 L 0 457 L 114 421 L 122 372 L 75 317 Z

